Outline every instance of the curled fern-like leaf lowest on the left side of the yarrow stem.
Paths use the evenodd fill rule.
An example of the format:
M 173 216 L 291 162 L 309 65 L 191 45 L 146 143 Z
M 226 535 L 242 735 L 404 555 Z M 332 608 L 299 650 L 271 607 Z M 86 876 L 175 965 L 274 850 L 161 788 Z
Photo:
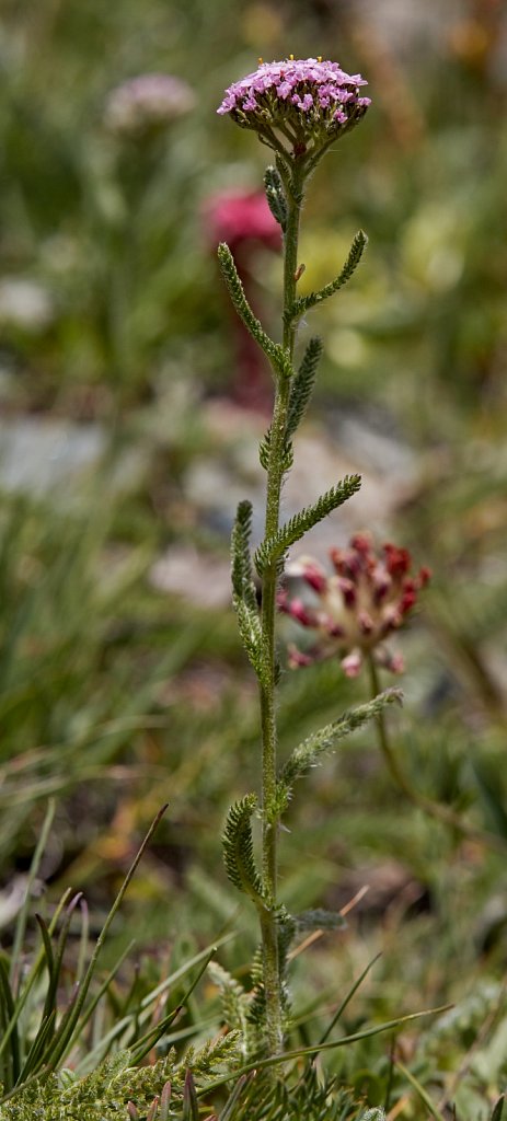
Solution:
M 255 794 L 247 794 L 241 802 L 231 806 L 222 835 L 223 862 L 227 874 L 245 895 L 250 896 L 257 907 L 265 907 L 262 882 L 253 859 L 253 841 L 250 818 L 257 808 Z

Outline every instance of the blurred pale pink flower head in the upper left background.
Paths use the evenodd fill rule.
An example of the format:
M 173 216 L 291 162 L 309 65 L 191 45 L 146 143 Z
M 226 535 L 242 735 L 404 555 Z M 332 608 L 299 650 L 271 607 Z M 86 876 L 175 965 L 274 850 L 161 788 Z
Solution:
M 195 105 L 190 85 L 172 74 L 140 74 L 111 90 L 105 128 L 114 136 L 141 139 L 165 129 Z

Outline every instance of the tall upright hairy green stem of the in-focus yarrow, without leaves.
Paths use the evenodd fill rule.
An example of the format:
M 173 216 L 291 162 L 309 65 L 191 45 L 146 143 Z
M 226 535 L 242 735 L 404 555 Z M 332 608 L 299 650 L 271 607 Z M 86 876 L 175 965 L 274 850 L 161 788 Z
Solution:
M 304 169 L 293 164 L 291 178 L 285 177 L 287 194 L 287 224 L 284 237 L 284 334 L 283 346 L 292 362 L 296 324 L 289 322 L 288 311 L 296 294 L 297 243 L 303 203 Z M 291 380 L 278 374 L 273 421 L 270 428 L 269 461 L 266 495 L 266 539 L 279 528 L 282 482 L 284 476 L 284 445 Z M 270 1055 L 283 1047 L 282 980 L 278 962 L 277 927 L 277 840 L 276 807 L 277 785 L 277 725 L 276 725 L 276 590 L 277 566 L 269 565 L 262 576 L 262 654 L 265 680 L 260 686 L 262 734 L 262 883 L 268 906 L 260 915 L 262 936 L 264 984 L 266 994 L 266 1026 Z

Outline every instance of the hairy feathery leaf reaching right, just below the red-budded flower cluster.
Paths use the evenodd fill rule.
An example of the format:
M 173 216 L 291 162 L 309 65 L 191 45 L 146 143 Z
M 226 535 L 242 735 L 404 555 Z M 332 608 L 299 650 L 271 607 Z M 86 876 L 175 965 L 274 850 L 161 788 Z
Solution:
M 340 740 L 343 740 L 345 735 L 350 735 L 351 732 L 357 731 L 358 728 L 362 728 L 368 721 L 379 716 L 387 705 L 402 704 L 402 701 L 403 693 L 400 689 L 385 689 L 384 693 L 379 693 L 372 701 L 358 705 L 357 708 L 351 708 L 349 712 L 343 713 L 339 720 L 333 721 L 332 724 L 326 724 L 325 728 L 321 728 L 319 732 L 314 732 L 313 735 L 303 740 L 294 749 L 282 770 L 279 777 L 280 798 L 285 797 L 287 800 L 291 797 L 295 780 L 306 775 L 311 767 L 315 767 L 322 754 L 328 751 L 334 751 Z

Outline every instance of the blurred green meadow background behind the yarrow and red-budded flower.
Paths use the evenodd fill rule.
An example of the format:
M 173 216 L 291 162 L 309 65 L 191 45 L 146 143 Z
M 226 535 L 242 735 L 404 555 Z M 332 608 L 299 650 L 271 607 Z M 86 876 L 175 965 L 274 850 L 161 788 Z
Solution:
M 288 53 L 359 71 L 372 105 L 308 191 L 302 291 L 337 274 L 359 226 L 370 244 L 301 332 L 325 350 L 285 508 L 359 470 L 361 494 L 308 548 L 325 559 L 370 528 L 432 568 L 399 637 L 393 732 L 411 780 L 498 842 L 414 812 L 375 729 L 347 741 L 291 808 L 285 900 L 337 907 L 370 890 L 344 934 L 308 951 L 296 989 L 339 988 L 382 949 L 353 1015 L 473 998 L 465 1032 L 498 999 L 507 947 L 500 0 L 3 0 L 0 924 L 8 939 L 50 795 L 40 890 L 82 888 L 96 921 L 167 799 L 117 942 L 133 933 L 156 957 L 233 921 L 230 961 L 248 957 L 250 915 L 219 844 L 230 802 L 258 782 L 228 537 L 242 497 L 260 536 L 270 385 L 214 250 L 229 240 L 271 332 L 280 253 L 258 197 L 269 152 L 215 110 L 259 56 Z M 175 81 L 126 85 L 142 75 Z M 283 752 L 367 697 L 338 665 L 285 674 Z M 504 1056 L 476 1072 L 482 1093 Z

